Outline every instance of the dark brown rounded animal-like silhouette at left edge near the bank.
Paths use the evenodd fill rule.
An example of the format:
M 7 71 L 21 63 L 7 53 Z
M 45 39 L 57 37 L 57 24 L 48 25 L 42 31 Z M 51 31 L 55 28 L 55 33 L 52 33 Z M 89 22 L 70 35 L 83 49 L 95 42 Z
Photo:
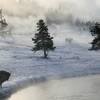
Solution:
M 0 87 L 2 87 L 2 83 L 7 81 L 10 77 L 10 73 L 6 71 L 0 71 Z

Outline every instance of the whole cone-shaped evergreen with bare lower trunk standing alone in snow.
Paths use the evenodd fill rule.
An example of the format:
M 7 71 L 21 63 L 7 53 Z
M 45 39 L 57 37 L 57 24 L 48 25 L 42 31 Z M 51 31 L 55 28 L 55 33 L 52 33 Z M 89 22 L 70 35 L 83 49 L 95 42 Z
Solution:
M 32 38 L 33 43 L 35 43 L 35 47 L 33 47 L 33 51 L 42 50 L 44 52 L 44 57 L 47 58 L 48 51 L 54 50 L 53 46 L 53 37 L 48 33 L 48 27 L 45 25 L 42 19 L 37 23 L 37 33 L 35 33 L 35 37 Z

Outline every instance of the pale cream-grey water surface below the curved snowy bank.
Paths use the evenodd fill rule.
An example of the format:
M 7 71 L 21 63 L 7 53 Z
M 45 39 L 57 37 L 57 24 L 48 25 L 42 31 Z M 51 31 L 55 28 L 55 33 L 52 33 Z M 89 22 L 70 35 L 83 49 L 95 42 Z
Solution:
M 9 100 L 100 100 L 100 75 L 40 83 L 15 93 Z

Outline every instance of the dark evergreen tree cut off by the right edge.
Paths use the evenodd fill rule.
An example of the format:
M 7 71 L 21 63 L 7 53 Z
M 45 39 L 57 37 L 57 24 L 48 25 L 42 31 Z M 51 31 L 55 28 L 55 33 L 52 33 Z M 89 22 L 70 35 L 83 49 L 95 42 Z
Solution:
M 100 49 L 100 24 L 95 23 L 93 26 L 91 26 L 90 32 L 91 32 L 92 36 L 94 36 L 95 38 L 91 42 L 92 47 L 89 50 Z

